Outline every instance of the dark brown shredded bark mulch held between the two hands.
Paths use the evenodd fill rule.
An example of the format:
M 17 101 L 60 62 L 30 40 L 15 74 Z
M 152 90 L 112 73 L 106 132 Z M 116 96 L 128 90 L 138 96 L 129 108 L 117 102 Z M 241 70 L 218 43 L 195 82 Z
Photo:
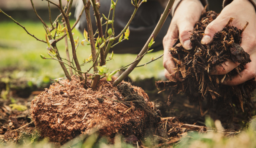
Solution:
M 208 11 L 201 15 L 201 19 L 196 23 L 194 30 L 191 31 L 190 41 L 193 46 L 191 50 L 186 50 L 181 46 L 180 40 L 177 39 L 174 47 L 170 49 L 173 60 L 177 66 L 176 74 L 182 81 L 158 81 L 158 88 L 168 88 L 170 90 L 169 100 L 173 95 L 183 92 L 190 101 L 198 101 L 200 104 L 201 114 L 202 102 L 206 100 L 208 107 L 213 104 L 225 107 L 249 108 L 251 92 L 256 88 L 254 80 L 246 81 L 236 86 L 222 85 L 226 79 L 232 79 L 233 75 L 240 75 L 244 70 L 246 63 L 249 63 L 250 56 L 239 45 L 241 43 L 241 34 L 243 30 L 237 29 L 230 25 L 233 18 L 230 18 L 226 27 L 216 33 L 213 42 L 207 45 L 201 44 L 206 26 L 216 19 L 217 13 Z M 233 61 L 241 63 L 234 70 L 225 75 L 210 75 L 209 70 L 214 70 L 216 65 L 224 61 Z M 246 100 L 246 101 L 244 101 Z M 224 105 L 224 106 L 223 106 Z

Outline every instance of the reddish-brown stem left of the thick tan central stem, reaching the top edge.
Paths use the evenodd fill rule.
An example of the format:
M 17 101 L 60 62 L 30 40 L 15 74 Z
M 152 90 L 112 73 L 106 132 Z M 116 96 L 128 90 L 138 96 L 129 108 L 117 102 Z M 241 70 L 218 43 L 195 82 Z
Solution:
M 66 22 L 66 27 L 67 27 L 67 30 L 68 30 L 68 34 L 69 34 L 69 39 L 70 39 L 70 43 L 71 43 L 71 47 L 72 47 L 72 54 L 73 54 L 73 59 L 75 61 L 75 64 L 76 64 L 76 68 L 81 71 L 81 67 L 80 67 L 80 64 L 78 62 L 78 59 L 77 59 L 77 56 L 76 56 L 76 46 L 75 46 L 75 41 L 74 41 L 74 38 L 73 38 L 73 34 L 72 34 L 72 30 L 71 30 L 71 27 L 70 27 L 70 23 L 69 23 L 69 18 L 68 18 L 68 15 L 64 12 L 63 8 L 62 8 L 62 2 L 61 0 L 59 0 L 59 9 L 65 19 L 65 22 Z M 79 75 L 82 75 L 81 72 L 78 72 Z M 83 81 L 83 78 L 82 77 L 79 77 L 79 80 L 80 81 Z

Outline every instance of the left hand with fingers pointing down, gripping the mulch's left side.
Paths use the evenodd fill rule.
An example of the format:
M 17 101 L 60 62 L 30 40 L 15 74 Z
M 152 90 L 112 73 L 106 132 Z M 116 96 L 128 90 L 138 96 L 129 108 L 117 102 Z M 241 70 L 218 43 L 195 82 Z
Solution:
M 180 39 L 182 46 L 189 50 L 190 45 L 190 32 L 194 29 L 196 22 L 200 19 L 201 13 L 204 10 L 203 5 L 199 0 L 182 0 L 175 10 L 173 19 L 171 20 L 170 27 L 167 34 L 163 38 L 164 58 L 163 65 L 165 68 L 165 77 L 168 80 L 180 80 L 178 74 L 175 74 L 176 68 L 169 49 L 175 43 L 174 39 Z

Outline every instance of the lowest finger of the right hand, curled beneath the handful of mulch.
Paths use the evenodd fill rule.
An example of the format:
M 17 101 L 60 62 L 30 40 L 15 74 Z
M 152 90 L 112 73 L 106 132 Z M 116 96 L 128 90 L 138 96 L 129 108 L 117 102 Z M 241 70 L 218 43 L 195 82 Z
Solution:
M 247 63 L 245 69 L 240 72 L 240 75 L 235 75 L 231 80 L 224 80 L 222 84 L 224 85 L 239 85 L 248 81 L 256 76 L 256 58 L 251 58 L 252 62 Z

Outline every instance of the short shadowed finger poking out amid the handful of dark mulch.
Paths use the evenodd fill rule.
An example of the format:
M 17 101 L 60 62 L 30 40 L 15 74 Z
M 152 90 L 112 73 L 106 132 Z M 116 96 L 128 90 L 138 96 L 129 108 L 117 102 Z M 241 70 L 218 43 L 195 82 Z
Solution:
M 236 68 L 240 63 L 234 63 L 232 61 L 225 61 L 224 63 L 221 63 L 220 65 L 217 65 L 214 67 L 213 70 L 211 70 L 209 73 L 211 75 L 223 75 L 227 74 L 230 71 L 232 71 L 234 68 Z

